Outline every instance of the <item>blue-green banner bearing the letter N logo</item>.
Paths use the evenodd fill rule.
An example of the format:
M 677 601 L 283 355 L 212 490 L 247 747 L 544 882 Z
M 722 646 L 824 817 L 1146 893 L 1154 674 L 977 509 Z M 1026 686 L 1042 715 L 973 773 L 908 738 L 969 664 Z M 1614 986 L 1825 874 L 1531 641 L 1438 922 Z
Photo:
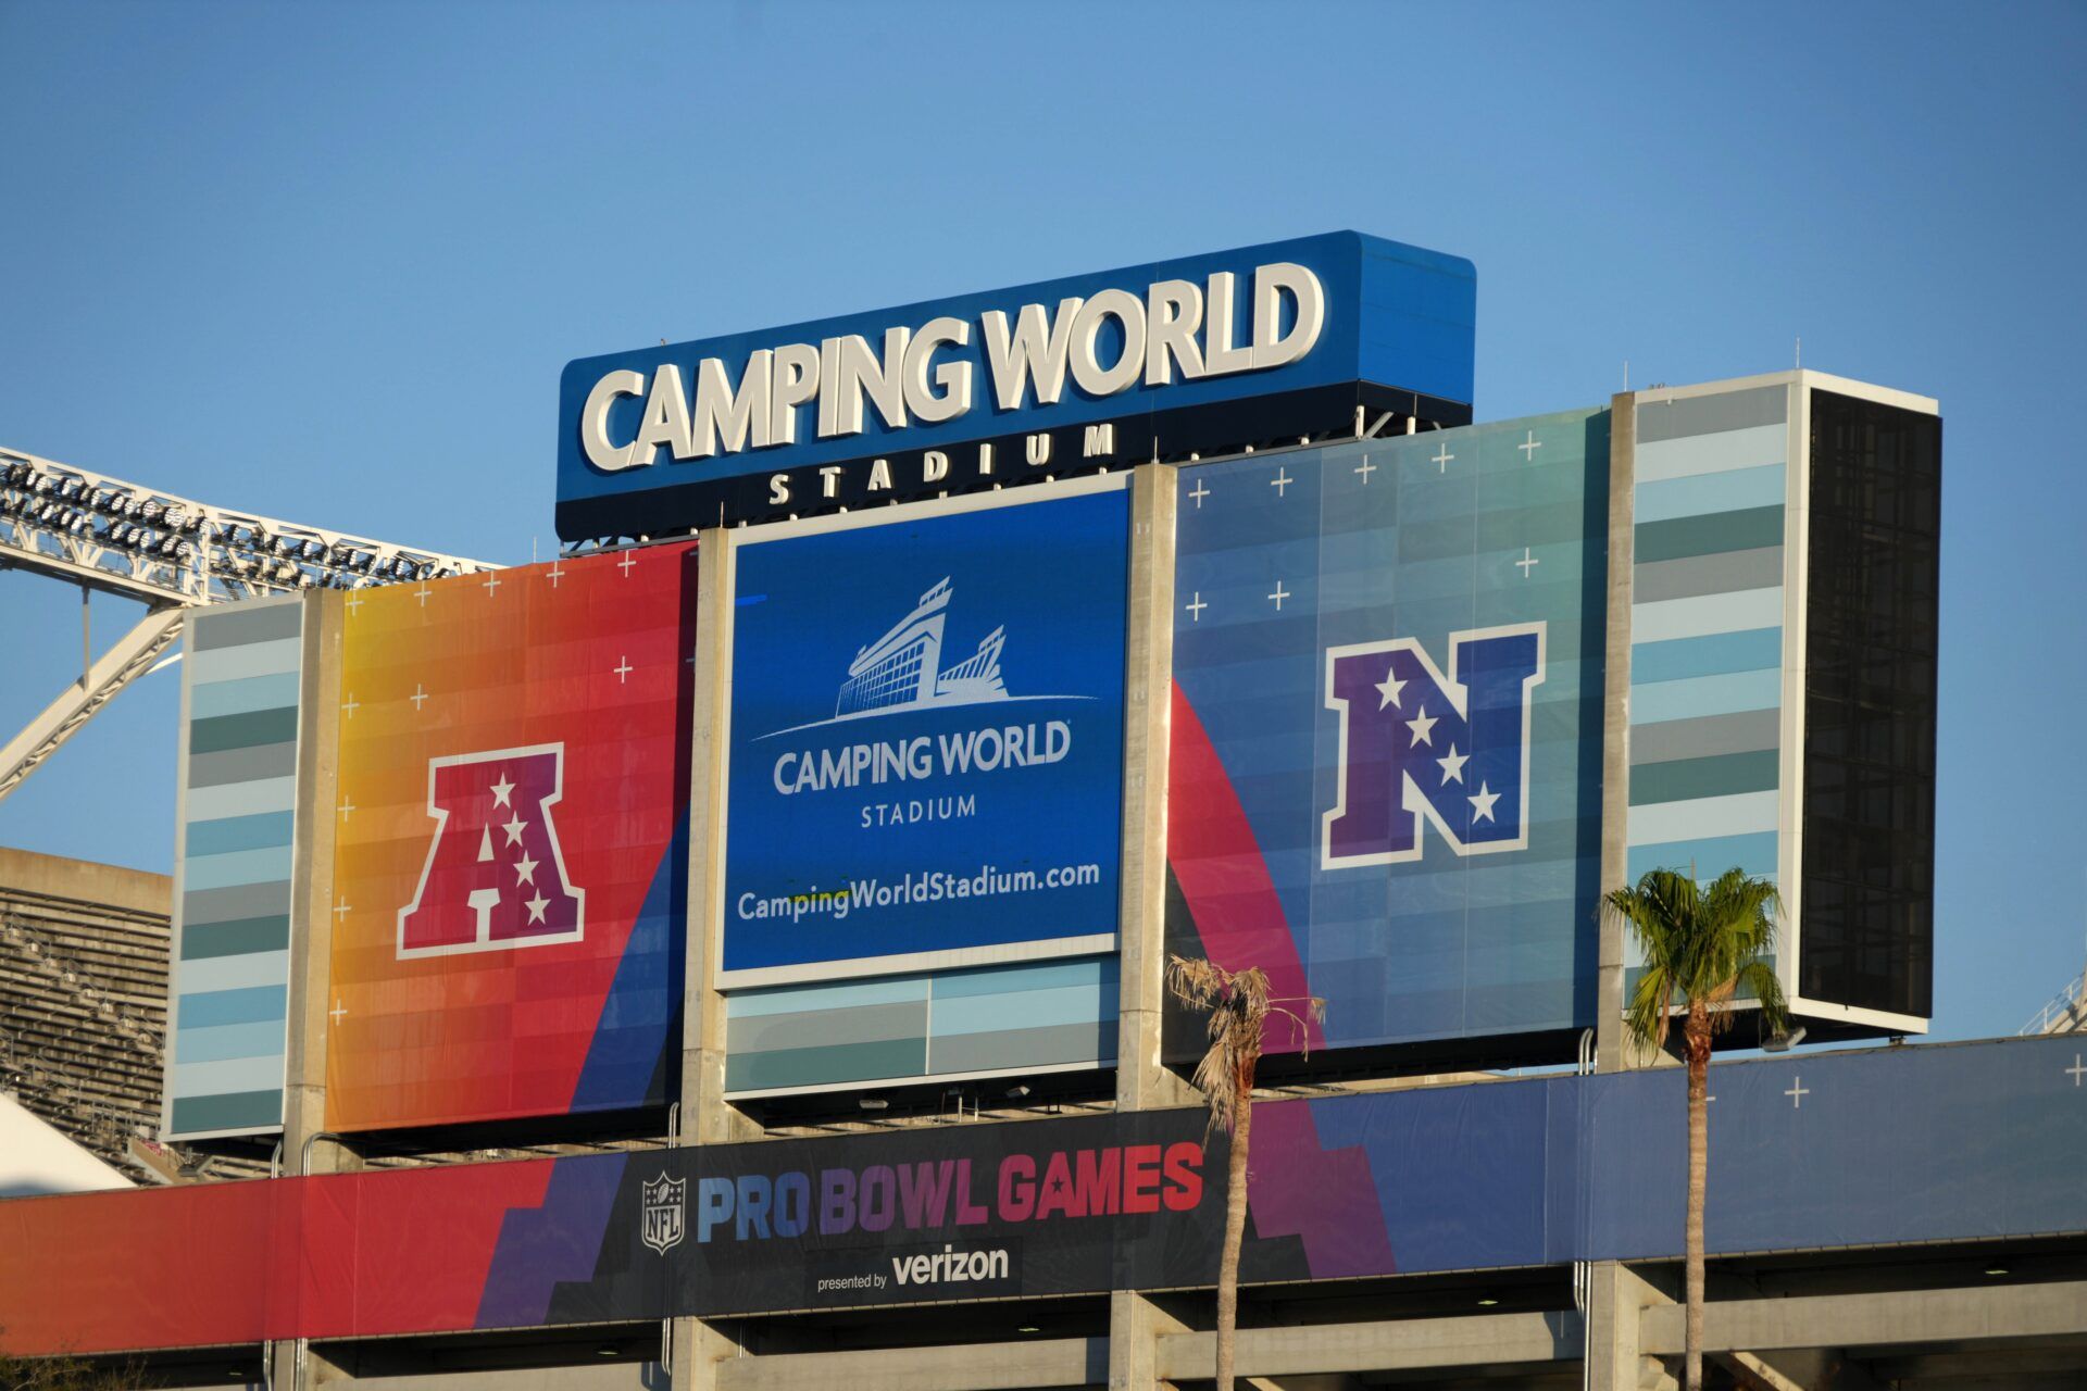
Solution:
M 1179 471 L 1169 949 L 1315 1047 L 1592 1024 L 1607 478 L 1605 411 Z

